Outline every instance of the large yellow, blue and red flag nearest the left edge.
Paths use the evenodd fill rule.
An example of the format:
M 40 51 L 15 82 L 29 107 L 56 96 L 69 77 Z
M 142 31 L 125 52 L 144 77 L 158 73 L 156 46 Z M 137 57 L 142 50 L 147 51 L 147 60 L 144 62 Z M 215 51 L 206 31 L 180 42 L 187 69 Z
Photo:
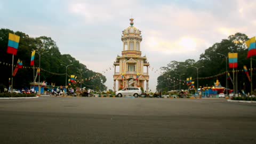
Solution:
M 19 47 L 20 37 L 9 33 L 7 53 L 16 55 Z

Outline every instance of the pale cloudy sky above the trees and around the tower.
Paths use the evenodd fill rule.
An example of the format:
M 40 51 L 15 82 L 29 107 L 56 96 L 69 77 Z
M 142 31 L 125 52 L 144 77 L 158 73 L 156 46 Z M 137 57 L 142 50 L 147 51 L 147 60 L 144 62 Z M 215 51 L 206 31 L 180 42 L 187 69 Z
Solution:
M 0 0 L 0 28 L 51 37 L 61 54 L 93 71 L 111 67 L 103 75 L 113 89 L 113 62 L 121 55 L 122 30 L 132 17 L 142 31 L 142 56 L 151 65 L 149 89 L 155 90 L 159 68 L 170 61 L 198 60 L 209 46 L 237 32 L 255 36 L 255 7 L 255 0 Z

